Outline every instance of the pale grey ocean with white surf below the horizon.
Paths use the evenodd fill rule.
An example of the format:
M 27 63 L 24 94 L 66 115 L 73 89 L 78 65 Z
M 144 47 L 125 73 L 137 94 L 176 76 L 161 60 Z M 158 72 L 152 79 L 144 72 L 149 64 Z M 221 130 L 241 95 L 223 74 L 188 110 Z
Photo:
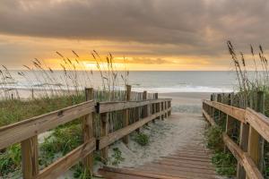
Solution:
M 27 90 L 32 88 L 46 88 L 51 85 L 66 86 L 65 72 L 55 71 L 49 78 L 55 79 L 57 84 L 52 84 L 48 81 L 48 77 L 44 72 L 23 72 L 24 76 L 19 75 L 21 71 L 11 71 L 14 81 L 2 82 L 0 88 L 21 89 Z M 102 86 L 100 72 L 92 72 L 85 77 L 84 72 L 77 72 L 77 83 L 84 87 L 83 82 L 90 79 L 91 85 L 94 88 Z M 105 74 L 105 72 L 104 72 Z M 124 81 L 119 72 L 117 74 L 117 85 L 124 86 Z M 71 75 L 71 74 L 70 74 Z M 72 81 L 74 83 L 74 81 Z M 202 71 L 180 71 L 180 72 L 129 72 L 128 83 L 132 85 L 135 91 L 148 90 L 149 92 L 230 92 L 237 88 L 237 78 L 235 72 L 202 72 Z

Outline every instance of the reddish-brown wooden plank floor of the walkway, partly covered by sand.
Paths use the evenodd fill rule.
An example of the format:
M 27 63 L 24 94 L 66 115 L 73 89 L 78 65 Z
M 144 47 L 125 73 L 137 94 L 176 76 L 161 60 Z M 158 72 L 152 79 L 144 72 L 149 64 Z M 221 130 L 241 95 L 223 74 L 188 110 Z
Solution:
M 201 120 L 201 117 L 196 120 Z M 195 132 L 195 142 L 180 145 L 182 147 L 166 157 L 135 168 L 104 166 L 100 169 L 100 175 L 108 179 L 220 178 L 211 163 L 210 151 L 204 147 L 202 132 Z

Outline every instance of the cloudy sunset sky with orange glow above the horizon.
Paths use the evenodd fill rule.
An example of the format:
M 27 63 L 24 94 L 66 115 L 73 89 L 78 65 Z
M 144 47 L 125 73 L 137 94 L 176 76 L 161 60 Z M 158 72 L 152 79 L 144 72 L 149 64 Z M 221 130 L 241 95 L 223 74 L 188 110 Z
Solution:
M 268 49 L 268 17 L 267 0 L 1 0 L 0 64 L 57 69 L 74 50 L 95 70 L 96 50 L 119 70 L 230 70 L 227 40 Z

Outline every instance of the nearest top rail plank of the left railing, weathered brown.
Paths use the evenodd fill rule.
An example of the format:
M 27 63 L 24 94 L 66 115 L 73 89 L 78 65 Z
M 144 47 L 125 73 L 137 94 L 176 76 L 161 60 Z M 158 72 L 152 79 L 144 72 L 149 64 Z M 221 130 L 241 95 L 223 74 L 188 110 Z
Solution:
M 46 132 L 60 124 L 68 123 L 75 118 L 90 114 L 93 111 L 95 111 L 94 102 L 88 101 L 73 107 L 65 107 L 46 115 L 39 115 L 16 124 L 1 127 L 0 149 L 27 140 L 41 132 Z

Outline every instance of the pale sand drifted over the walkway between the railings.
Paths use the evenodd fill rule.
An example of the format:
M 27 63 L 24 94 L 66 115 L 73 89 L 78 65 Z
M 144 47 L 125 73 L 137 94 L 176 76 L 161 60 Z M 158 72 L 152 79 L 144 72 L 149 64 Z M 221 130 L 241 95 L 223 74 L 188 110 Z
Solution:
M 112 145 L 109 155 L 113 153 L 113 148 L 122 151 L 125 158 L 118 167 L 135 167 L 145 162 L 150 162 L 187 146 L 189 142 L 201 142 L 204 132 L 204 119 L 201 115 L 174 113 L 164 121 L 157 120 L 156 124 L 150 124 L 143 128 L 143 132 L 150 136 L 150 144 L 141 147 L 135 141 L 131 141 L 127 147 L 121 141 Z

